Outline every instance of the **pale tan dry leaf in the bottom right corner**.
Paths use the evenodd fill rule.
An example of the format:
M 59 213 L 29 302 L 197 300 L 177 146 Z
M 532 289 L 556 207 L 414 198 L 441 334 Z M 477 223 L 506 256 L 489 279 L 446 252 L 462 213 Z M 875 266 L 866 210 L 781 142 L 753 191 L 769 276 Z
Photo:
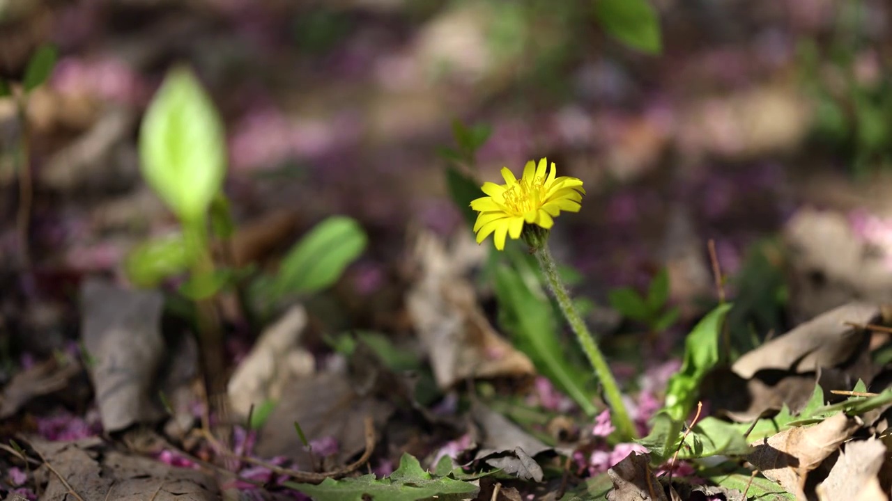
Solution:
M 886 446 L 880 439 L 848 442 L 839 454 L 836 464 L 817 487 L 822 501 L 835 499 L 888 500 L 883 493 L 877 475 L 886 460 Z

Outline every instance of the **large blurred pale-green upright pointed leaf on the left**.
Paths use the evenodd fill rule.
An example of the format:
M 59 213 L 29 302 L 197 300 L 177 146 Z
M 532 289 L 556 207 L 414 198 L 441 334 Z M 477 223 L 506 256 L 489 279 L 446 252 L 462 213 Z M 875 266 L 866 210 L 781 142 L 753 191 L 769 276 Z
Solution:
M 199 221 L 226 176 L 223 122 L 190 70 L 170 70 L 145 112 L 139 156 L 146 182 L 183 221 Z

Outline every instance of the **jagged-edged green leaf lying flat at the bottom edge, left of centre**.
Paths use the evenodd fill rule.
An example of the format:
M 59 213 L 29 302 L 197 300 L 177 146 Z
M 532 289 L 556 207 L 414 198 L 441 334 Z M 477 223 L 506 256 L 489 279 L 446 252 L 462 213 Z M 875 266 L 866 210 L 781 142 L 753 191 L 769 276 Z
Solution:
M 417 501 L 430 497 L 458 500 L 473 498 L 480 490 L 467 481 L 425 472 L 409 454 L 403 454 L 400 467 L 389 478 L 377 480 L 374 474 L 369 474 L 343 480 L 326 479 L 318 485 L 285 482 L 285 486 L 316 501 Z

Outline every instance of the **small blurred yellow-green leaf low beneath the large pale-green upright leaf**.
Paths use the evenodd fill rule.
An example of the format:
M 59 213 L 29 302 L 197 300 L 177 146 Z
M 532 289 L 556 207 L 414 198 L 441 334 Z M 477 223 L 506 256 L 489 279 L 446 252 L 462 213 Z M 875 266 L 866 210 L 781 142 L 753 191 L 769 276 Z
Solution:
M 148 288 L 184 273 L 190 264 L 183 235 L 169 234 L 130 250 L 124 259 L 124 271 L 130 282 Z

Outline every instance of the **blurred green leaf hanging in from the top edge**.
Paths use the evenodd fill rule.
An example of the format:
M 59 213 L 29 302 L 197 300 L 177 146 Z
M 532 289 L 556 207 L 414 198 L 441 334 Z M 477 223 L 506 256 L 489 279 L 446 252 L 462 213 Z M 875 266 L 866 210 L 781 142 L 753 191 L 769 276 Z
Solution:
M 657 11 L 648 0 L 595 0 L 595 16 L 605 31 L 643 53 L 662 52 Z

